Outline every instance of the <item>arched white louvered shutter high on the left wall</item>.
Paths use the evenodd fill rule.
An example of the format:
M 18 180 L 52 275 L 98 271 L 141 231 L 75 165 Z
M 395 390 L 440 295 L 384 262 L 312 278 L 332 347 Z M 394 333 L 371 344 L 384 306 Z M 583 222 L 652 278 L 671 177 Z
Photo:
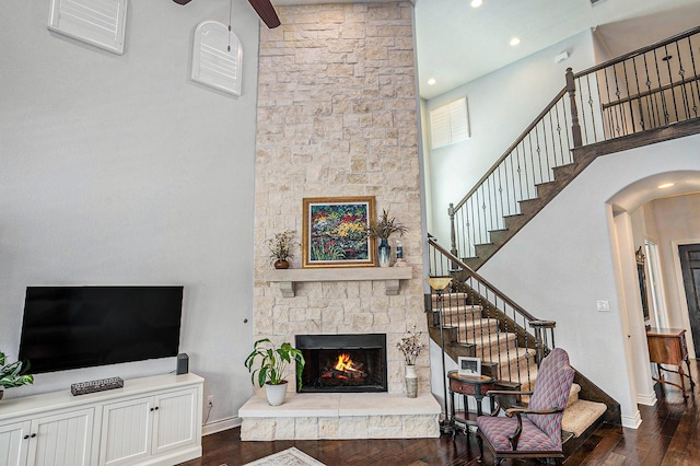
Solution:
M 199 23 L 192 49 L 192 81 L 241 95 L 242 59 L 241 40 L 228 26 L 217 21 Z

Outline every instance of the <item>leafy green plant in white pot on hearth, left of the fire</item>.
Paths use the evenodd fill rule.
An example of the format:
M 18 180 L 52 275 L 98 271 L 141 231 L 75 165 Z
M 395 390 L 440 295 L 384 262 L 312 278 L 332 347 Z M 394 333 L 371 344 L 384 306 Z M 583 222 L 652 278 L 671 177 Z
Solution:
M 258 386 L 265 386 L 267 400 L 271 406 L 284 403 L 287 393 L 284 373 L 292 360 L 296 366 L 296 386 L 301 388 L 302 371 L 306 361 L 301 350 L 289 342 L 285 341 L 277 347 L 269 338 L 262 338 L 253 345 L 253 352 L 245 360 L 245 366 L 250 372 L 250 382 L 255 385 L 257 381 Z M 254 369 L 256 365 L 257 368 Z

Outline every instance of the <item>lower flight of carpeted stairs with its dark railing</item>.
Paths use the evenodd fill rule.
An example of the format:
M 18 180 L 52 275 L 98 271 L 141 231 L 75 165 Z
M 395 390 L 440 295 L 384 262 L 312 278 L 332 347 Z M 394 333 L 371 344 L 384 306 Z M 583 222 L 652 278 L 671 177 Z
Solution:
M 499 380 L 529 384 L 537 363 L 555 347 L 555 323 L 537 319 L 433 240 L 428 247 L 430 277 L 453 278 L 443 305 L 433 306 L 436 324 L 454 328 L 457 342 L 472 346 Z

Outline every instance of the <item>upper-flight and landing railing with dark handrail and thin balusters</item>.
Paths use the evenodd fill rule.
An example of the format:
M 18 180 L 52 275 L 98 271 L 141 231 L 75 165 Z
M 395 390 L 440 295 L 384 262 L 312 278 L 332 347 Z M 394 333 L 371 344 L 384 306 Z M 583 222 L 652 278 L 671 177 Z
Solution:
M 511 144 L 477 185 L 450 205 L 451 253 L 476 256 L 490 232 L 520 214 L 520 201 L 573 162 L 572 149 L 697 118 L 700 26 L 579 73 Z M 570 130 L 569 130 L 570 128 Z

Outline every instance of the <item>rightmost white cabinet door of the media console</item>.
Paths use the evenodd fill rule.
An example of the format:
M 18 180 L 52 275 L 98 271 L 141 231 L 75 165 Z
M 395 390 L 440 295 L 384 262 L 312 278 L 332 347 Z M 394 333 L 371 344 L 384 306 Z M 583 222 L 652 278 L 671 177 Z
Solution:
M 195 416 L 197 391 L 195 388 L 155 396 L 153 419 L 153 454 L 197 443 Z

